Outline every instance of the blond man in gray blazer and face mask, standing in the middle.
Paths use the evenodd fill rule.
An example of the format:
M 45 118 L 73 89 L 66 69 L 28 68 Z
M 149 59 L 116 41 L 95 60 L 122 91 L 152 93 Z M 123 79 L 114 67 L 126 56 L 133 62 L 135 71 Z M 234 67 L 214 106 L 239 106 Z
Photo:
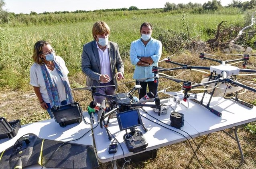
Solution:
M 114 95 L 117 80 L 124 79 L 124 63 L 118 44 L 108 41 L 110 28 L 105 22 L 95 22 L 92 34 L 94 40 L 83 45 L 82 53 L 81 68 L 86 76 L 86 85 L 102 86 L 96 88 L 97 93 Z M 104 87 L 109 85 L 112 86 Z M 94 96 L 97 103 L 101 104 L 103 99 L 105 97 Z

